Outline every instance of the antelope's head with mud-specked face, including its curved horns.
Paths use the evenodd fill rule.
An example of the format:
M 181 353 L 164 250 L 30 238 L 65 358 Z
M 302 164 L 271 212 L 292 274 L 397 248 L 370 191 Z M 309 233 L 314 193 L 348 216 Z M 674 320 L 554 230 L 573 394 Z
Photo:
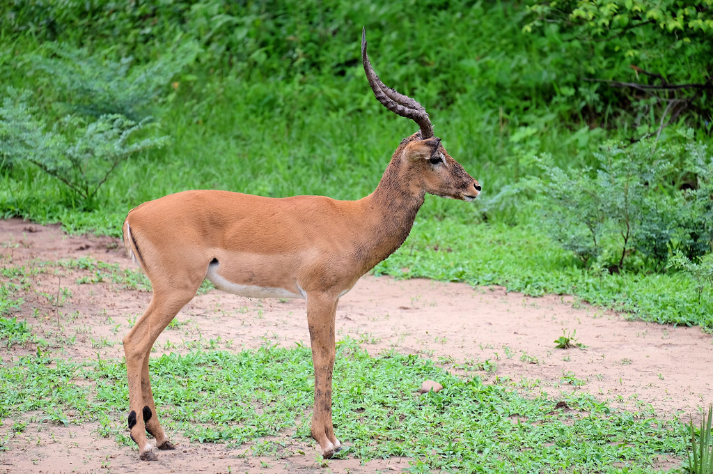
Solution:
M 481 192 L 481 185 L 451 158 L 441 144 L 441 138 L 434 136 L 431 119 L 421 104 L 409 96 L 384 85 L 371 67 L 366 55 L 366 29 L 361 30 L 361 60 L 364 63 L 366 79 L 369 80 L 374 96 L 382 105 L 394 114 L 411 119 L 419 126 L 419 131 L 404 138 L 396 148 L 394 159 L 399 158 L 411 163 L 408 167 L 412 189 L 421 190 L 443 198 L 473 201 Z

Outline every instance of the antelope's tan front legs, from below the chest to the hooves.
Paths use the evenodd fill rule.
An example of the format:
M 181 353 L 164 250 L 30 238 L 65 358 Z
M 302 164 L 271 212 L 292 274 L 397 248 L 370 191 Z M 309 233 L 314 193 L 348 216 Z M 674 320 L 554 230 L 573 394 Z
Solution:
M 314 413 L 312 438 L 331 458 L 342 447 L 332 425 L 332 370 L 334 369 L 334 314 L 337 299 L 324 295 L 307 296 L 307 324 L 314 364 Z

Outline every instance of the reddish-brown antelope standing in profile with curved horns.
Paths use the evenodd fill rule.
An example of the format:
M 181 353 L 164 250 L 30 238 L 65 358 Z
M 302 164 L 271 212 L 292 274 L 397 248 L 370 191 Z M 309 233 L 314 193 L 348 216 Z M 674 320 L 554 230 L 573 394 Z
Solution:
M 473 201 L 478 181 L 434 137 L 424 107 L 385 86 L 361 59 L 376 99 L 419 126 L 391 157 L 376 190 L 356 201 L 324 196 L 267 198 L 228 191 L 183 191 L 129 211 L 124 245 L 153 288 L 148 308 L 123 338 L 128 428 L 139 458 L 174 449 L 158 422 L 148 358 L 158 335 L 204 279 L 250 298 L 304 298 L 314 363 L 311 434 L 324 458 L 342 444 L 332 425 L 334 318 L 339 298 L 409 236 L 426 193 Z

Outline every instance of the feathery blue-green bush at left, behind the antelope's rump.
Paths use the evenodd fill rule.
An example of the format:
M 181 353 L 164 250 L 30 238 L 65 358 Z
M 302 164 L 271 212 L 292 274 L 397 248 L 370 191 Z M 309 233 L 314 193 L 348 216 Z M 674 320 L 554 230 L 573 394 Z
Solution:
M 139 138 L 149 115 L 168 97 L 173 77 L 195 60 L 198 46 L 184 41 L 155 61 L 118 60 L 114 51 L 90 54 L 67 44 L 48 44 L 43 54 L 19 56 L 31 63 L 40 94 L 8 87 L 0 108 L 0 168 L 32 163 L 71 192 L 70 204 L 91 209 L 119 163 L 168 137 Z M 64 107 L 58 109 L 61 101 Z M 34 104 L 39 105 L 34 105 Z M 54 114 L 53 114 L 54 113 Z

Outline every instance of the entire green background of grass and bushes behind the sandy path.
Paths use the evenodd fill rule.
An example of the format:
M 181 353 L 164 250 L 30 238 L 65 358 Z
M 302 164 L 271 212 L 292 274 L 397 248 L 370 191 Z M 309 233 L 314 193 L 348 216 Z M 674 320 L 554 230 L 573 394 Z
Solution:
M 365 196 L 414 124 L 371 96 L 364 25 L 376 71 L 484 189 L 429 198 L 378 272 L 713 328 L 711 1 L 16 1 L 0 18 L 4 217 L 118 235 L 188 188 Z

